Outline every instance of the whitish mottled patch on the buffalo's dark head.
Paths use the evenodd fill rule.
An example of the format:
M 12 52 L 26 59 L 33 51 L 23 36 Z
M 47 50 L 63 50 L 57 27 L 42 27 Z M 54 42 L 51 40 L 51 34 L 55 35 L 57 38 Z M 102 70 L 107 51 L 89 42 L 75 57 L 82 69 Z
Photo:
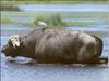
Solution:
M 19 35 L 11 36 L 10 40 L 12 42 L 13 48 L 19 48 L 20 46 L 20 36 Z

